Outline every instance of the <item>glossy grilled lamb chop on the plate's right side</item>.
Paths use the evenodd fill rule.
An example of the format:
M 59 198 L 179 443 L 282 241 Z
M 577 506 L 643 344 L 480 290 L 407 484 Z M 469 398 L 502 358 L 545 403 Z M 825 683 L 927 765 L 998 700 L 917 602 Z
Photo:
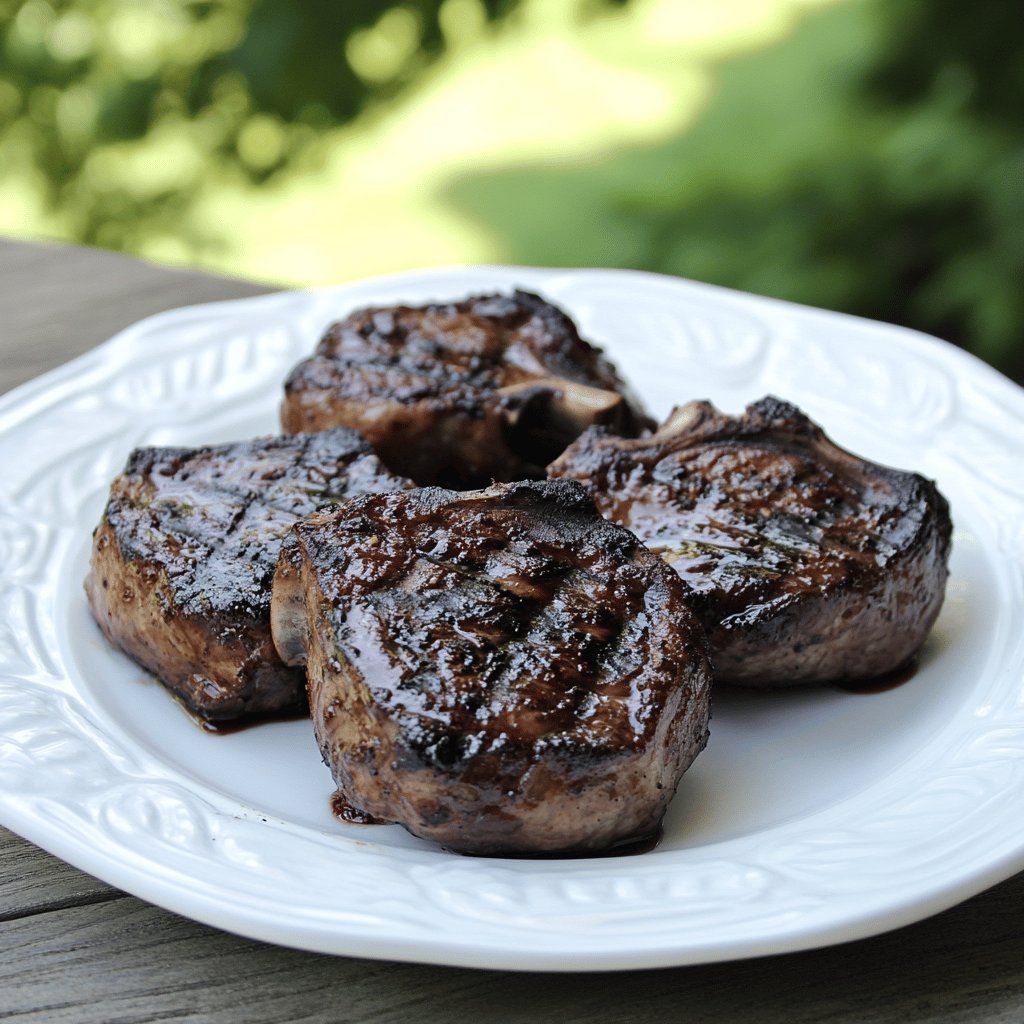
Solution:
M 588 431 L 549 471 L 690 585 L 717 681 L 883 675 L 942 605 L 951 525 L 935 484 L 843 451 L 776 398 L 739 417 L 691 402 L 637 440 Z

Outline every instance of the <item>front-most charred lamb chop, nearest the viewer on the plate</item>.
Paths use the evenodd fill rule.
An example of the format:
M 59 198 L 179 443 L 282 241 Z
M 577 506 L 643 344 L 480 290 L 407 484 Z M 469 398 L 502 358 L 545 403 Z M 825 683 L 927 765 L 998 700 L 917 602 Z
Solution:
M 474 854 L 650 836 L 708 735 L 686 588 L 569 481 L 357 498 L 298 523 L 274 641 L 344 802 Z

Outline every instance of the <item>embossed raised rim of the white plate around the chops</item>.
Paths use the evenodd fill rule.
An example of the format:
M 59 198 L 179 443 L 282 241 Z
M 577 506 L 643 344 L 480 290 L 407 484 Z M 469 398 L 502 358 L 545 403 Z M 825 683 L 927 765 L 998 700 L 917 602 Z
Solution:
M 831 402 L 854 409 L 842 393 L 848 379 L 863 388 L 906 385 L 908 400 L 921 403 L 922 415 L 931 417 L 928 432 L 935 434 L 922 442 L 923 458 L 931 458 L 935 449 L 937 458 L 949 456 L 953 468 L 965 460 L 977 463 L 979 453 L 988 460 L 980 469 L 963 471 L 963 481 L 978 490 L 977 501 L 969 500 L 959 476 L 953 483 L 965 490 L 958 511 L 980 538 L 1002 602 L 987 677 L 978 690 L 988 701 L 989 717 L 950 722 L 932 746 L 908 755 L 895 778 L 873 780 L 841 805 L 759 833 L 758 849 L 750 837 L 740 836 L 700 848 L 699 854 L 684 850 L 628 860 L 556 862 L 469 860 L 419 848 L 380 849 L 370 840 L 342 843 L 335 835 L 267 820 L 257 807 L 197 788 L 120 732 L 90 703 L 88 687 L 74 678 L 75 666 L 67 664 L 59 635 L 65 609 L 54 607 L 55 573 L 68 557 L 70 530 L 91 528 L 92 522 L 75 521 L 84 513 L 62 509 L 67 496 L 34 492 L 38 483 L 30 479 L 30 470 L 44 478 L 56 474 L 61 460 L 72 466 L 77 459 L 88 468 L 91 453 L 99 452 L 103 441 L 47 437 L 46 452 L 60 458 L 36 469 L 29 466 L 33 445 L 45 447 L 40 438 L 49 420 L 33 417 L 47 410 L 52 414 L 54 403 L 66 398 L 94 397 L 101 383 L 125 368 L 137 369 L 142 345 L 173 359 L 179 347 L 186 347 L 185 335 L 194 339 L 188 344 L 199 346 L 205 343 L 204 332 L 217 340 L 221 361 L 204 371 L 207 378 L 196 371 L 196 396 L 214 386 L 210 373 L 228 367 L 242 383 L 225 404 L 245 408 L 250 400 L 245 375 L 252 370 L 246 361 L 252 354 L 246 346 L 252 345 L 246 339 L 260 332 L 267 344 L 278 346 L 275 358 L 291 358 L 306 350 L 301 345 L 311 347 L 310 332 L 323 326 L 328 310 L 381 297 L 418 301 L 513 285 L 541 290 L 570 312 L 583 310 L 585 318 L 588 303 L 607 303 L 609 295 L 620 293 L 644 308 L 664 301 L 694 315 L 699 311 L 700 324 L 714 329 L 705 351 L 712 361 L 728 355 L 730 346 L 743 351 L 746 346 L 753 353 L 745 362 L 722 361 L 716 372 L 726 391 L 741 390 L 744 374 L 751 382 L 766 375 L 787 379 L 784 367 L 772 366 L 780 353 L 817 358 L 820 372 L 833 373 L 831 386 L 839 393 L 806 390 L 825 408 Z M 274 334 L 275 325 L 285 325 L 281 331 L 287 333 L 288 325 L 298 323 L 304 325 L 301 337 Z M 759 343 L 748 324 L 764 327 L 768 341 Z M 585 323 L 584 333 L 603 342 L 595 327 Z M 716 334 L 719 329 L 725 335 Z M 227 334 L 242 339 L 237 352 L 224 342 Z M 835 338 L 854 348 L 847 351 Z M 883 371 L 857 355 L 860 346 L 876 353 Z M 646 352 L 655 361 L 663 355 L 656 346 Z M 629 360 L 616 357 L 629 374 Z M 193 369 L 185 367 L 171 387 L 169 429 L 174 416 L 191 409 Z M 252 370 L 256 390 L 263 386 L 257 371 Z M 932 371 L 948 394 L 936 396 L 928 386 L 913 391 L 914 374 L 927 385 Z M 806 385 L 798 377 L 799 390 Z M 142 374 L 135 383 L 161 382 L 147 384 Z M 785 396 L 801 400 L 799 394 Z M 125 396 L 129 406 L 131 400 Z M 114 418 L 110 410 L 95 411 L 97 429 L 103 428 L 104 416 Z M 0 644 L 0 819 L 71 863 L 155 903 L 254 938 L 332 953 L 520 970 L 627 969 L 808 948 L 920 920 L 1024 866 L 1024 836 L 1012 823 L 1024 811 L 1019 784 L 1024 780 L 1019 707 L 1024 703 L 1024 649 L 1006 628 L 1008 617 L 1024 609 L 1024 558 L 1015 535 L 996 536 L 1005 519 L 1020 521 L 1024 495 L 1015 490 L 999 497 L 990 479 L 1008 467 L 1019 470 L 1013 444 L 1014 430 L 1022 424 L 1024 392 L 934 339 L 635 271 L 446 268 L 157 314 L 0 398 L 0 445 L 29 453 L 23 459 L 24 486 L 15 481 L 12 492 L 0 497 L 0 515 L 17 522 L 18 516 L 25 518 L 25 503 L 33 501 L 42 509 L 50 507 L 47 502 L 54 508 L 53 523 L 10 532 L 9 558 L 0 565 L 7 630 L 0 636 L 6 643 Z M 67 528 L 57 521 L 60 515 L 71 520 Z M 945 790 L 932 785 L 933 756 L 948 768 Z M 905 792 L 907 780 L 921 783 L 916 796 Z M 976 790 L 984 795 L 986 787 L 993 792 L 985 800 L 974 799 Z M 905 825 L 899 833 L 898 818 L 880 816 L 880 808 L 889 806 L 894 814 L 903 813 L 900 801 L 911 798 L 916 800 L 914 820 L 931 822 L 918 838 Z M 863 815 L 853 827 L 851 813 Z M 968 818 L 975 840 L 956 842 Z M 890 835 L 894 828 L 898 835 Z M 883 876 L 860 870 L 866 862 L 861 848 L 867 859 L 882 853 L 894 862 Z M 287 868 L 296 862 L 304 865 L 302 878 L 289 876 Z M 360 889 L 370 884 L 372 895 L 339 878 L 340 867 L 358 876 Z M 840 884 L 844 873 L 853 880 Z M 316 894 L 325 892 L 317 901 Z

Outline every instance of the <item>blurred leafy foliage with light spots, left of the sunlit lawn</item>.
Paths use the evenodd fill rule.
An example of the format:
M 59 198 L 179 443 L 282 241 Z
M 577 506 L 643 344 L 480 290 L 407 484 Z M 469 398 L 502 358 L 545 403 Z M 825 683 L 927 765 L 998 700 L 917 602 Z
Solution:
M 517 0 L 473 2 L 497 19 Z M 211 167 L 301 167 L 325 129 L 408 85 L 443 48 L 444 7 L 0 0 L 0 160 L 35 172 L 72 238 L 130 251 Z

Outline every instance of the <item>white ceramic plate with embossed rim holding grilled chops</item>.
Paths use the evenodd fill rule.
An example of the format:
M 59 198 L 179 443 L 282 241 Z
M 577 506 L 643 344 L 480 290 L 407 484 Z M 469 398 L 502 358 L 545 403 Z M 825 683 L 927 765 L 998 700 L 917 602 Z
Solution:
M 198 729 L 82 593 L 139 444 L 271 433 L 281 382 L 368 302 L 521 286 L 660 416 L 775 393 L 938 480 L 952 574 L 921 668 L 878 694 L 718 695 L 660 846 L 473 859 L 345 825 L 308 723 Z M 924 918 L 1024 867 L 1024 392 L 912 332 L 605 270 L 436 270 L 180 309 L 0 400 L 0 819 L 154 903 L 332 953 L 540 970 L 802 949 Z

